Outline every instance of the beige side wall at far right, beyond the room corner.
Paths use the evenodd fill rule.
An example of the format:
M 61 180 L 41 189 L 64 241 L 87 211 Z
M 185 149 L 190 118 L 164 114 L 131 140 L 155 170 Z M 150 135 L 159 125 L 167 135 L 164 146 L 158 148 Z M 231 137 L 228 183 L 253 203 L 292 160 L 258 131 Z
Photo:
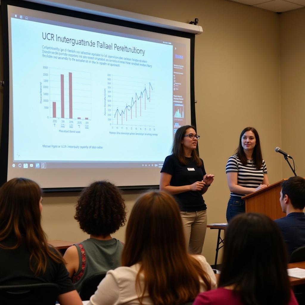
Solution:
M 305 9 L 282 14 L 281 50 L 281 128 L 282 149 L 296 162 L 296 174 L 305 177 Z M 292 176 L 282 158 L 283 177 Z

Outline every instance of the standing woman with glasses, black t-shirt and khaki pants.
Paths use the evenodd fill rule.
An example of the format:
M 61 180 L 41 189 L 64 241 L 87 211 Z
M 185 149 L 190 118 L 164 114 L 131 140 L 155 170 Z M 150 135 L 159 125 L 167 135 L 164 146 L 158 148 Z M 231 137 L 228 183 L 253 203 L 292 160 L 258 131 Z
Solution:
M 173 195 L 179 204 L 186 245 L 193 254 L 202 252 L 207 224 L 202 195 L 214 180 L 213 174 L 206 174 L 196 151 L 199 138 L 194 126 L 177 129 L 172 154 L 165 158 L 160 178 L 160 190 Z

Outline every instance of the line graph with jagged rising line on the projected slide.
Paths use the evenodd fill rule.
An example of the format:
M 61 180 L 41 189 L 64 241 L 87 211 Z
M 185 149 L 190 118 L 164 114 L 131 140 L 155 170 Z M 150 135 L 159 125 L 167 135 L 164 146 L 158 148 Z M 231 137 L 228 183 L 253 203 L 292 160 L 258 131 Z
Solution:
M 112 76 L 112 124 L 154 126 L 155 90 L 152 80 Z

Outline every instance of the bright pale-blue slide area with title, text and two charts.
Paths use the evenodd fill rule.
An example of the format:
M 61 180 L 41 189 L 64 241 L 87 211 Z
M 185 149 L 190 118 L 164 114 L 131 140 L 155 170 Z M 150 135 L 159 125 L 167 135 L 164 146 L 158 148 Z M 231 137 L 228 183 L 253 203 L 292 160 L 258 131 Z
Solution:
M 11 18 L 11 30 L 16 162 L 161 161 L 168 155 L 173 45 L 20 15 Z

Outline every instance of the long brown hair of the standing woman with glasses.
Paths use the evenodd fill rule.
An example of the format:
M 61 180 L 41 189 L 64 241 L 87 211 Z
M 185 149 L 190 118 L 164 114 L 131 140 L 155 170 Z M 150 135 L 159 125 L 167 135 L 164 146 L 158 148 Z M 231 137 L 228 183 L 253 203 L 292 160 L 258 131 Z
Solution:
M 188 128 L 193 128 L 196 131 L 196 127 L 191 126 L 191 125 L 185 125 L 185 126 L 179 127 L 175 133 L 173 146 L 172 146 L 172 153 L 175 154 L 177 156 L 179 162 L 184 165 L 186 165 L 187 162 L 185 160 L 184 148 L 183 148 L 183 144 L 181 142 L 182 142 L 182 140 L 185 136 L 185 132 Z M 196 131 L 196 133 L 197 133 L 197 131 Z M 197 147 L 198 147 L 198 143 L 197 143 Z M 199 158 L 199 155 L 198 155 L 198 152 L 196 149 L 192 150 L 191 156 L 194 159 L 197 166 L 202 166 L 202 162 Z

